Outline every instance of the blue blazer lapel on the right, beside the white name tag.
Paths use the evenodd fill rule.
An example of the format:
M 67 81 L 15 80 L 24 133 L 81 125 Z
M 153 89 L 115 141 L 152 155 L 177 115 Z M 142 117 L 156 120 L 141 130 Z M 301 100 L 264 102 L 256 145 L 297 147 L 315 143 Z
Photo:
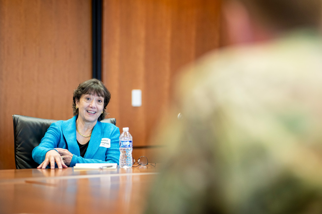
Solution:
M 84 158 L 92 159 L 99 149 L 100 142 L 103 136 L 102 123 L 97 121 L 95 124 L 92 135 L 90 136 L 90 142 L 88 144 Z

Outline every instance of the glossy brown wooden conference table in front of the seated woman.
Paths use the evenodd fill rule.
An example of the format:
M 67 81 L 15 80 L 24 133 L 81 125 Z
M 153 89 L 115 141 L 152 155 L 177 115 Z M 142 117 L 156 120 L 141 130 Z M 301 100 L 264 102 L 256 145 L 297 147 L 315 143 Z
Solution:
M 0 170 L 0 213 L 142 213 L 157 168 Z

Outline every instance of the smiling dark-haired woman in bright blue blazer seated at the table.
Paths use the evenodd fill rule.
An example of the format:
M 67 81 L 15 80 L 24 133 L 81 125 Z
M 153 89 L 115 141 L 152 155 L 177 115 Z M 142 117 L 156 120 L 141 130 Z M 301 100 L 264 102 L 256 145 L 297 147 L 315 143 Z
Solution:
M 105 118 L 111 94 L 105 85 L 90 79 L 74 90 L 69 120 L 52 123 L 39 146 L 33 149 L 37 168 L 75 166 L 77 163 L 118 163 L 118 127 L 100 122 Z

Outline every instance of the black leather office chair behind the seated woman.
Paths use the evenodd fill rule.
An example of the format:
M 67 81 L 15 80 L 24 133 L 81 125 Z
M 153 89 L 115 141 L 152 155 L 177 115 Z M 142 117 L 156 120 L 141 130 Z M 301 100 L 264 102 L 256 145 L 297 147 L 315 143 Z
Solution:
M 33 148 L 40 144 L 49 126 L 57 120 L 49 120 L 23 115 L 12 115 L 14 120 L 14 161 L 17 169 L 37 168 L 32 157 Z M 115 118 L 101 122 L 116 124 Z

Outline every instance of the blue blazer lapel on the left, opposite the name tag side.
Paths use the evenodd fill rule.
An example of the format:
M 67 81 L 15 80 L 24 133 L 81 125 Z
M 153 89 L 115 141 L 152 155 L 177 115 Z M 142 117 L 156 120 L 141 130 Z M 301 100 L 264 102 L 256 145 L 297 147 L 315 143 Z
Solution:
M 77 141 L 76 141 L 76 119 L 77 119 L 77 117 L 78 117 L 78 115 L 63 122 L 62 133 L 66 139 L 68 151 L 70 151 L 72 154 L 75 154 L 77 156 L 81 156 L 80 148 L 79 148 Z

